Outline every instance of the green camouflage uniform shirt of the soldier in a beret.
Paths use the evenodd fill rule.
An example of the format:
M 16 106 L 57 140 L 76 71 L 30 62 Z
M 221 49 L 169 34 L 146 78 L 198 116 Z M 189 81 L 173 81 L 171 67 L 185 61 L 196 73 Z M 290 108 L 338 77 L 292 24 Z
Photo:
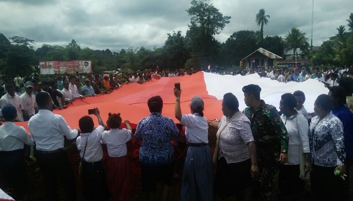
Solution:
M 275 156 L 288 152 L 287 130 L 275 107 L 261 100 L 259 108 L 248 107 L 243 114 L 251 121 L 257 152 L 274 152 Z

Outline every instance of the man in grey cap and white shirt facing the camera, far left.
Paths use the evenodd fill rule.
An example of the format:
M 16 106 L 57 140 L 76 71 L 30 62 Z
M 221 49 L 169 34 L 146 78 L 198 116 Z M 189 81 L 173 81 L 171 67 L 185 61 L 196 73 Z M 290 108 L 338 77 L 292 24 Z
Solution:
M 33 83 L 27 81 L 25 83 L 25 92 L 20 95 L 20 100 L 23 106 L 23 119 L 28 121 L 33 115 L 35 115 L 35 108 L 37 103 L 35 102 L 35 96 L 33 92 Z

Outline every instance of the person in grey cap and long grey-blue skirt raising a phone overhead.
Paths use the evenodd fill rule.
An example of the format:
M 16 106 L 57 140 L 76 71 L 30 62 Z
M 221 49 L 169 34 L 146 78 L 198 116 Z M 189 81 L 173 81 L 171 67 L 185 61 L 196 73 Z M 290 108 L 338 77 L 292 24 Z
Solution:
M 181 90 L 174 87 L 174 116 L 185 126 L 189 148 L 184 163 L 182 200 L 213 200 L 213 162 L 208 146 L 208 123 L 203 116 L 204 102 L 199 96 L 191 100 L 192 114 L 183 115 L 180 108 Z

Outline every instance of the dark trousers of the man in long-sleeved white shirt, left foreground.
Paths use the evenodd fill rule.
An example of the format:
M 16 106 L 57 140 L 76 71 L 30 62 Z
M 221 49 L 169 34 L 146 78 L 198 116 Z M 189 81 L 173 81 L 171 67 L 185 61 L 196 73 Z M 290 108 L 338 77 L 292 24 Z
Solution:
M 55 153 L 36 153 L 38 166 L 43 174 L 46 200 L 58 200 L 56 177 L 58 177 L 66 191 L 66 200 L 77 200 L 75 177 L 68 155 L 64 151 Z

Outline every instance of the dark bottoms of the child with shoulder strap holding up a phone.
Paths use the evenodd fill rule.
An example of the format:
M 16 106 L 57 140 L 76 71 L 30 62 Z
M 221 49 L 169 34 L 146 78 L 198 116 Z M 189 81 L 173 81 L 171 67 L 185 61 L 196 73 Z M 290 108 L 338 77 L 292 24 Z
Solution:
M 106 177 L 101 161 L 83 162 L 82 170 L 83 198 L 85 201 L 106 200 L 109 191 L 106 186 Z

